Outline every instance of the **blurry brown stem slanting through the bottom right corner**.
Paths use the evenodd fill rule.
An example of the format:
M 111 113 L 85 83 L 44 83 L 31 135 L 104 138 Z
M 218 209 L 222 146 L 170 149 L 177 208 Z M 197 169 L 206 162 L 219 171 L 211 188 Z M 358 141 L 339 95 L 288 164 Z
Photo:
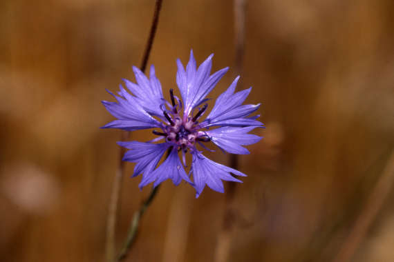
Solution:
M 348 239 L 342 245 L 339 253 L 333 261 L 346 262 L 352 259 L 359 244 L 364 238 L 371 223 L 373 223 L 377 213 L 382 208 L 384 201 L 391 192 L 394 183 L 394 151 L 388 158 L 386 167 L 380 175 L 375 188 L 370 193 L 362 213 L 359 215 L 353 229 L 350 231 Z

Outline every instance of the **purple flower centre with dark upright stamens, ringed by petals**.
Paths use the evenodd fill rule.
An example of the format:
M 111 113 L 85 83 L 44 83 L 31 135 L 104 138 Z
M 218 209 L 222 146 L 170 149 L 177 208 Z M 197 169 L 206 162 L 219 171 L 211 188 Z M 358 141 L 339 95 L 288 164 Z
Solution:
M 173 95 L 173 90 L 169 90 L 171 96 L 171 111 L 163 110 L 163 115 L 167 119 L 169 124 L 164 124 L 162 126 L 163 132 L 158 132 L 153 130 L 153 134 L 158 136 L 164 136 L 167 143 L 172 143 L 173 146 L 178 147 L 178 150 L 183 152 L 195 149 L 195 143 L 210 141 L 209 137 L 205 132 L 199 131 L 200 126 L 198 125 L 198 118 L 200 118 L 205 110 L 207 110 L 207 104 L 198 110 L 194 117 L 183 116 L 181 117 L 179 112 L 181 111 L 182 103 L 178 100 L 176 104 L 176 99 Z

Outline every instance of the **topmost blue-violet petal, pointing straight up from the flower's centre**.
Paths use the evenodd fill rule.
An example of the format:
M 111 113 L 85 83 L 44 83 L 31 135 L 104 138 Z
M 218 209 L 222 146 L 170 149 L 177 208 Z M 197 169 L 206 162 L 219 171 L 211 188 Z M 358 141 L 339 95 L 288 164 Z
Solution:
M 212 69 L 212 57 L 213 54 L 196 69 L 196 60 L 194 59 L 193 50 L 191 50 L 186 71 L 180 60 L 176 61 L 178 66 L 176 83 L 185 103 L 185 114 L 189 114 L 191 110 L 202 103 L 207 94 L 212 91 L 216 83 L 228 70 L 228 68 L 223 68 L 209 76 Z

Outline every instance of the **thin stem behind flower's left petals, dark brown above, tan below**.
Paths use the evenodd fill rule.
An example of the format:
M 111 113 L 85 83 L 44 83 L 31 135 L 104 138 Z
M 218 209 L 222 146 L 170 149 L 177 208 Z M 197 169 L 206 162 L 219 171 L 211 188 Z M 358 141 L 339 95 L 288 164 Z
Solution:
M 140 69 L 142 72 L 145 72 L 147 68 L 147 63 L 149 59 L 149 54 L 151 53 L 151 49 L 153 46 L 153 40 L 156 35 L 156 30 L 158 28 L 159 14 L 160 9 L 162 7 L 162 0 L 156 0 L 155 12 L 153 14 L 153 21 L 151 24 L 151 31 L 149 32 L 149 38 L 147 41 L 147 45 L 144 50 L 144 55 L 142 57 L 142 63 Z M 129 132 L 122 132 L 120 137 L 121 141 L 125 141 L 130 136 Z M 111 199 L 109 203 L 109 214 L 108 221 L 106 227 L 106 261 L 111 262 L 115 258 L 115 228 L 116 228 L 116 217 L 118 215 L 118 206 L 119 206 L 119 196 L 122 184 L 122 178 L 124 173 L 124 161 L 122 161 L 122 157 L 126 150 L 124 148 L 120 148 L 120 161 L 118 165 L 118 170 L 116 171 L 115 178 L 113 181 Z

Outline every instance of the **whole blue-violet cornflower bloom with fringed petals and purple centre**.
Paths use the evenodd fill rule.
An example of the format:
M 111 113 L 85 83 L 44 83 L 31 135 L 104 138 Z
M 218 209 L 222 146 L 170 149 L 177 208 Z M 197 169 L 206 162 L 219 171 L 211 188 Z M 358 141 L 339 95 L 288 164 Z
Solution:
M 228 70 L 223 68 L 211 74 L 212 57 L 213 54 L 197 68 L 191 51 L 186 70 L 180 60 L 177 60 L 176 83 L 182 99 L 173 94 L 171 89 L 170 100 L 165 100 L 155 68 L 151 66 L 149 79 L 136 67 L 133 67 L 133 72 L 137 83 L 123 79 L 126 88 L 133 95 L 120 85 L 119 97 L 108 91 L 118 102 L 102 101 L 105 108 L 117 118 L 103 128 L 120 128 L 127 131 L 155 128 L 153 134 L 158 137 L 151 141 L 118 142 L 129 149 L 124 154 L 123 161 L 136 163 L 133 177 L 142 174 L 140 188 L 152 182 L 153 186 L 157 186 L 167 179 L 178 185 L 183 179 L 196 188 L 198 197 L 205 185 L 223 193 L 222 180 L 242 183 L 230 173 L 246 176 L 238 170 L 207 159 L 196 148 L 196 144 L 199 144 L 201 148 L 209 150 L 203 143 L 212 141 L 223 151 L 249 154 L 242 145 L 250 145 L 261 139 L 255 134 L 247 134 L 256 127 L 262 127 L 263 123 L 256 120 L 258 115 L 250 117 L 260 104 L 242 105 L 252 88 L 235 92 L 239 77 L 236 77 L 229 88 L 216 99 L 214 108 L 206 119 L 198 121 L 207 110 L 205 102 L 208 99 L 205 97 Z M 218 128 L 210 129 L 212 127 Z M 164 143 L 156 143 L 162 139 L 165 139 Z M 167 158 L 157 167 L 166 151 Z M 182 161 L 178 156 L 179 152 Z M 192 156 L 189 174 L 184 168 L 184 165 L 187 166 L 187 152 Z M 190 179 L 191 174 L 193 181 Z

